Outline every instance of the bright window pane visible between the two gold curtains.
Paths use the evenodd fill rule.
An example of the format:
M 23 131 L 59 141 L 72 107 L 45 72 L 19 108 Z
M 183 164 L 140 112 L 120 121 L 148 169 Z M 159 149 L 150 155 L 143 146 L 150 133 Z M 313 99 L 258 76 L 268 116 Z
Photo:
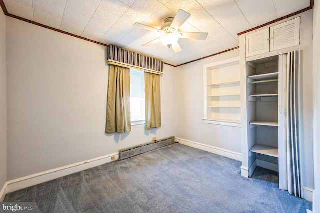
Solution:
M 131 125 L 145 123 L 144 72 L 130 69 Z

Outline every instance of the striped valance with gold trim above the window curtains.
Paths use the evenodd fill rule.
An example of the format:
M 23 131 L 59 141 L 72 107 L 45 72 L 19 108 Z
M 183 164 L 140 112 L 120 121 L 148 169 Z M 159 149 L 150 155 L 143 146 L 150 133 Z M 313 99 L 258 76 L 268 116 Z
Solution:
M 143 71 L 159 75 L 163 74 L 163 61 L 113 45 L 108 46 L 107 63 L 134 69 L 142 69 Z

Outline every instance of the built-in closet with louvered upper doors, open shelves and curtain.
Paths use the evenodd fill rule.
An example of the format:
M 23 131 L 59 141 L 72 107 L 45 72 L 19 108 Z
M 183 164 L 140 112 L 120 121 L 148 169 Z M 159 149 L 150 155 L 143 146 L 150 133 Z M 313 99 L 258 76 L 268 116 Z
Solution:
M 278 35 L 282 29 L 291 28 L 291 33 L 287 33 L 291 36 L 275 40 L 275 36 L 270 36 L 270 30 L 273 27 L 274 32 L 274 26 Z M 282 29 L 279 30 L 280 28 Z M 250 40 L 251 37 L 249 42 L 253 42 L 253 33 L 261 30 L 265 30 L 263 42 L 268 51 L 259 53 L 251 49 L 250 54 L 246 54 L 246 39 Z M 292 42 L 282 45 L 285 38 Z M 261 41 L 257 37 L 256 39 Z M 239 33 L 239 44 L 241 175 L 251 177 L 257 166 L 277 169 L 280 189 L 312 201 L 312 135 L 316 131 L 312 127 L 312 10 L 250 32 Z M 251 44 L 253 48 L 254 45 Z M 295 74 L 290 79 L 292 64 Z M 295 83 L 292 83 L 294 79 Z M 268 88 L 272 84 L 277 86 Z M 290 91 L 293 93 L 289 94 Z M 284 104 L 284 98 L 291 101 Z M 275 126 L 259 125 L 262 123 L 256 121 L 271 122 Z M 258 149 L 259 145 L 265 146 L 264 149 Z

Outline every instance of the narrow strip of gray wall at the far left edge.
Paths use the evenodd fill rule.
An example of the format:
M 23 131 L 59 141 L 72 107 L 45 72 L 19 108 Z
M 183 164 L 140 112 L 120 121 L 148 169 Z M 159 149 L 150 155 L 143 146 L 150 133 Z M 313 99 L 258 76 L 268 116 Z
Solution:
M 0 191 L 6 181 L 6 137 L 5 15 L 0 9 Z

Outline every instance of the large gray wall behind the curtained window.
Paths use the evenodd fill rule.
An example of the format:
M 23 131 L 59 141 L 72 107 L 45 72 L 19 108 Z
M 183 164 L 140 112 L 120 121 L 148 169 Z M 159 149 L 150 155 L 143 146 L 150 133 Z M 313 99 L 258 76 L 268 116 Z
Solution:
M 105 46 L 7 17 L 7 179 L 174 136 L 174 67 L 161 76 L 162 127 L 105 134 Z

